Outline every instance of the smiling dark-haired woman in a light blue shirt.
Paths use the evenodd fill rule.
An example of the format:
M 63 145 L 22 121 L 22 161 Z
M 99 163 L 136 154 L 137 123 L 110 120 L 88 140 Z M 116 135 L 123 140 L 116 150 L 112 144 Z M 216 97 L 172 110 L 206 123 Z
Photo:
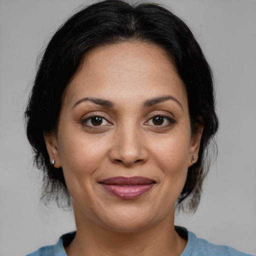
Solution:
M 76 232 L 30 255 L 246 255 L 174 226 L 194 211 L 218 121 L 188 27 L 154 4 L 107 0 L 50 40 L 26 109 L 43 197 L 72 202 Z

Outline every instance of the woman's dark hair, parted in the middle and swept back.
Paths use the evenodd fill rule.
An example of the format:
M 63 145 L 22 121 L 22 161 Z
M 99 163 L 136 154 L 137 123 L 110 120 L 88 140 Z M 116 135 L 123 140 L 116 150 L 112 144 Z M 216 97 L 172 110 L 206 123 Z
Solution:
M 202 181 L 208 171 L 207 149 L 218 127 L 210 67 L 187 25 L 169 10 L 153 3 L 130 5 L 121 0 L 104 0 L 71 16 L 49 41 L 25 111 L 26 134 L 33 148 L 37 167 L 43 170 L 42 197 L 58 204 L 70 195 L 62 169 L 54 168 L 46 150 L 43 132 L 55 132 L 61 94 L 92 48 L 125 40 L 142 40 L 163 49 L 176 66 L 188 97 L 192 133 L 203 123 L 198 160 L 188 168 L 177 204 L 186 200 L 195 210 Z M 65 201 L 65 200 L 64 200 Z

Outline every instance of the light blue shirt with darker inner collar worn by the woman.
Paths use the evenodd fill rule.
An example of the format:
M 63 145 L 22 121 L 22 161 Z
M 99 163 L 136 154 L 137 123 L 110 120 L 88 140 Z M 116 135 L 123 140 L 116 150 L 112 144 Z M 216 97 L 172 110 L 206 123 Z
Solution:
M 184 227 L 175 227 L 175 229 L 187 233 L 187 244 L 180 256 L 253 256 L 226 245 L 215 245 L 205 239 L 197 238 Z M 64 234 L 55 245 L 41 247 L 26 256 L 67 256 L 64 246 L 72 241 L 74 235 L 75 232 Z

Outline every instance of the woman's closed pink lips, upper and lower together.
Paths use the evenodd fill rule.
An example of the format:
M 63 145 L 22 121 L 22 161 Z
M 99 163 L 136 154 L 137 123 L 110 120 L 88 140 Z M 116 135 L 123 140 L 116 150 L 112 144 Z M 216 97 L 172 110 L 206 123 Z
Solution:
M 109 193 L 122 199 L 133 199 L 146 193 L 155 181 L 140 176 L 111 177 L 99 182 Z

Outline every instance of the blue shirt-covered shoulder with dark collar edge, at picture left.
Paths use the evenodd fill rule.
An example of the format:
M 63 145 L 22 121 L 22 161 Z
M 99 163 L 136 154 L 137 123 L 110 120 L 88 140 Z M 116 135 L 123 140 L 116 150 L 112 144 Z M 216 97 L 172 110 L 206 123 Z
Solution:
M 68 245 L 72 241 L 74 235 L 75 232 L 63 234 L 59 237 L 56 244 L 43 246 L 26 256 L 67 256 L 64 246 Z

